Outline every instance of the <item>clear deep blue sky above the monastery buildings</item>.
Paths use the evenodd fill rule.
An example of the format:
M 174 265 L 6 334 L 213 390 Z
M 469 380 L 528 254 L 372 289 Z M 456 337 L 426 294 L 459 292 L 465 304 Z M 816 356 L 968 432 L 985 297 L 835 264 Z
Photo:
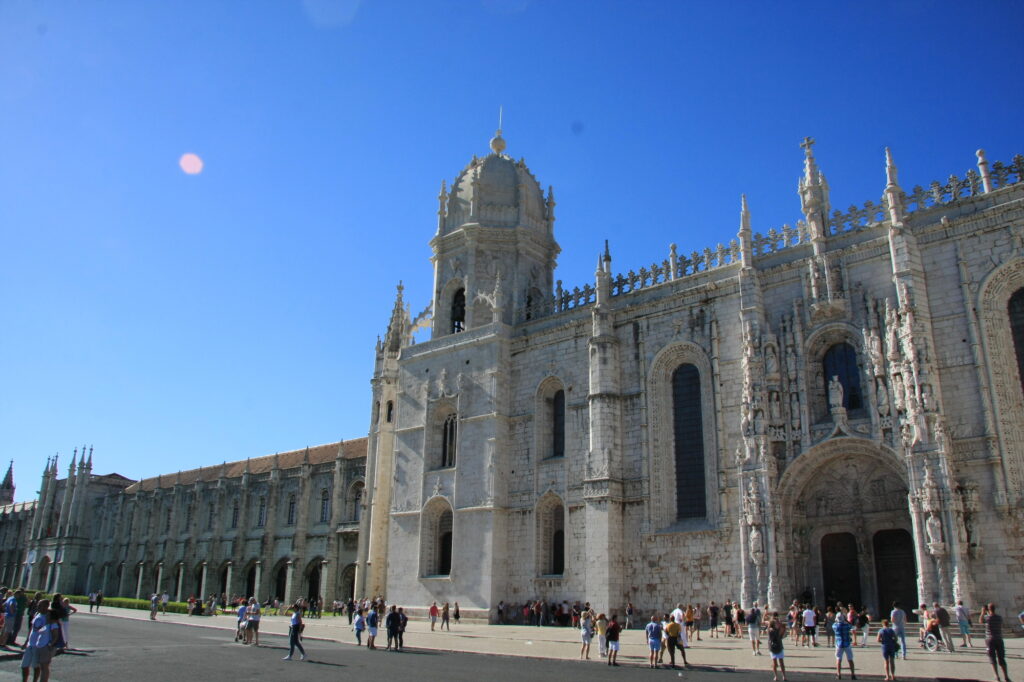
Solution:
M 436 196 L 508 152 L 557 275 L 1024 153 L 1019 2 L 0 0 L 0 457 L 132 478 L 366 434 L 374 341 L 429 302 Z M 185 153 L 205 168 L 186 175 Z M 4 464 L 6 462 L 4 461 Z

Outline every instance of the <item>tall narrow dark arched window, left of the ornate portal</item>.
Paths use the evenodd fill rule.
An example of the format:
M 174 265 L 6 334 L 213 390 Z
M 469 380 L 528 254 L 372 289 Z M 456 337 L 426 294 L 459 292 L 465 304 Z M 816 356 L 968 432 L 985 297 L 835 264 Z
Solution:
M 708 510 L 703 415 L 700 373 L 693 365 L 680 365 L 672 374 L 672 411 L 676 444 L 676 518 L 702 518 Z

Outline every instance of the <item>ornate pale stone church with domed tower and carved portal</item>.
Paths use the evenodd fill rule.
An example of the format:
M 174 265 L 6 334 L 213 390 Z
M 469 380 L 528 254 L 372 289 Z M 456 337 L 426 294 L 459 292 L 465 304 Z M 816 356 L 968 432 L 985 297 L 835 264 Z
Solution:
M 1024 600 L 1024 159 L 906 193 L 887 151 L 844 212 L 802 146 L 795 226 L 744 198 L 728 245 L 618 275 L 605 245 L 571 290 L 500 131 L 442 184 L 433 300 L 399 287 L 377 348 L 356 592 Z

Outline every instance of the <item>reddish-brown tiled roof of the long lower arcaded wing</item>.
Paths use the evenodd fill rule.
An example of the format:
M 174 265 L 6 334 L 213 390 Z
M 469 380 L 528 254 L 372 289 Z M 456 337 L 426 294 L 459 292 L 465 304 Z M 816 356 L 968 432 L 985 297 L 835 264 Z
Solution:
M 367 456 L 367 439 L 354 438 L 352 440 L 329 442 L 325 445 L 309 447 L 309 464 L 322 464 L 333 461 L 338 456 L 339 445 L 341 445 L 341 456 L 343 459 L 355 460 Z M 265 473 L 273 469 L 275 460 L 279 468 L 294 469 L 302 464 L 305 457 L 306 449 L 303 447 L 302 450 L 293 450 L 288 453 L 278 453 L 276 455 L 267 455 L 249 460 L 215 464 L 212 467 L 201 467 L 177 473 L 161 474 L 152 478 L 143 478 L 137 483 L 129 485 L 125 488 L 125 493 L 131 494 L 138 493 L 139 491 L 155 491 L 158 487 L 173 487 L 178 483 L 181 485 L 190 485 L 198 480 L 215 481 L 222 475 L 225 478 L 238 478 L 245 472 L 247 466 L 251 474 Z

